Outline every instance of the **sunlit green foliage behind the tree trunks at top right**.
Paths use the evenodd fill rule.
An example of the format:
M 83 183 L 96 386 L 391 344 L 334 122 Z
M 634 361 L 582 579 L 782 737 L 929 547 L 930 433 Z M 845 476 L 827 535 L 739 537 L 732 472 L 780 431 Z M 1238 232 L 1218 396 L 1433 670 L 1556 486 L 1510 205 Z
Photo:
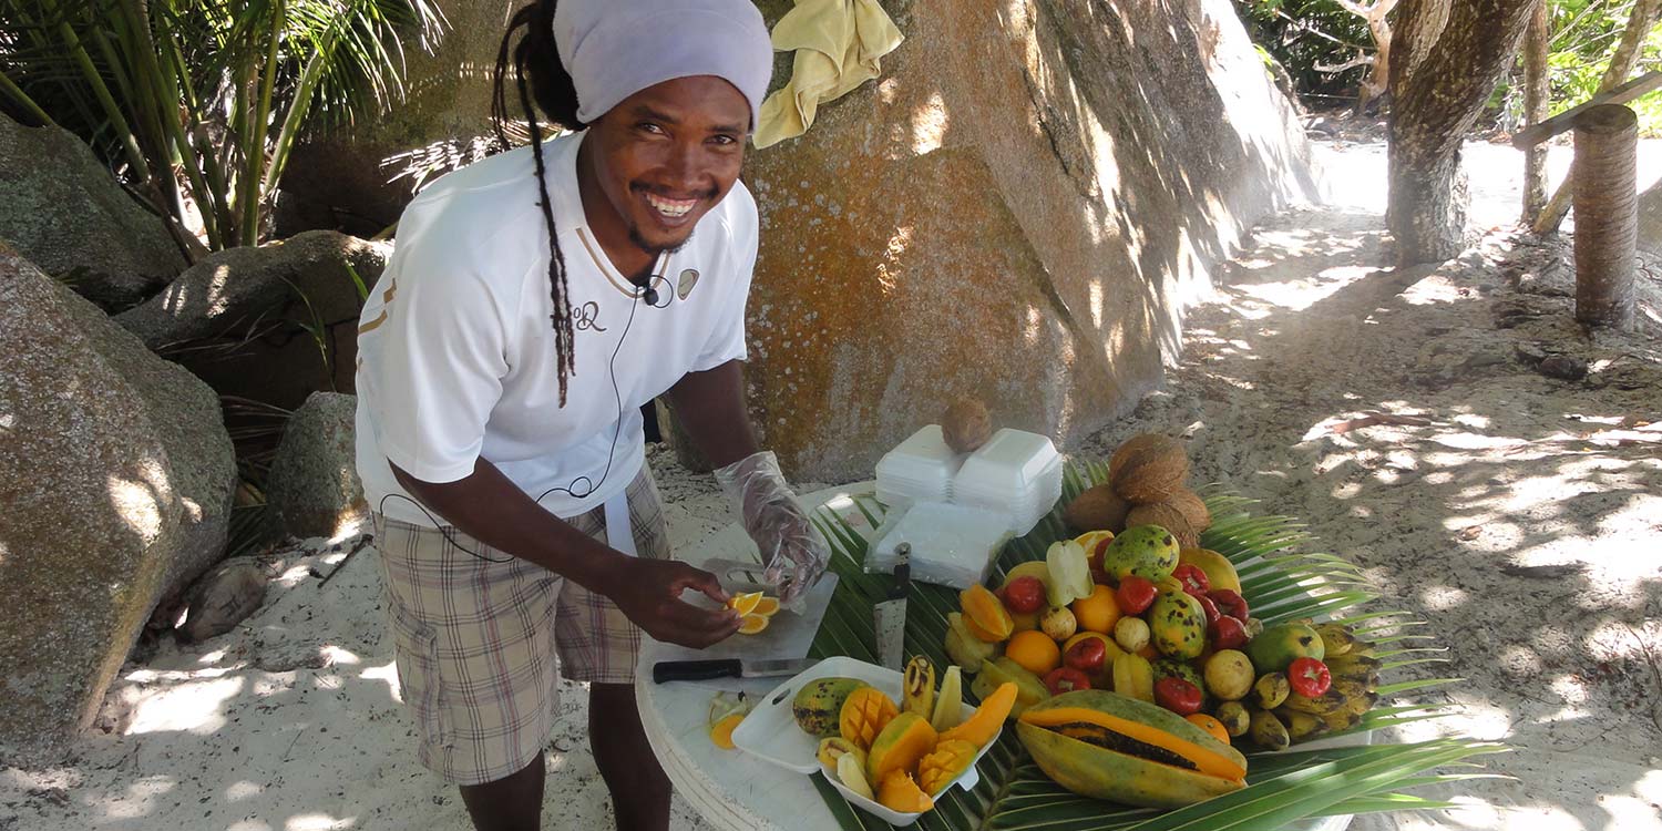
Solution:
M 1456 0 L 1459 2 L 1459 0 Z M 1554 113 L 1592 96 L 1604 68 L 1627 27 L 1637 0 L 1547 0 L 1549 83 Z M 1321 110 L 1345 106 L 1356 98 L 1366 66 L 1321 71 L 1373 52 L 1373 37 L 1363 18 L 1336 0 L 1235 0 L 1246 30 L 1260 48 L 1286 68 L 1305 105 Z M 1650 30 L 1640 48 L 1637 71 L 1662 68 L 1662 27 Z M 1662 135 L 1662 96 L 1634 101 L 1645 135 Z M 1502 80 L 1489 101 L 1489 123 L 1516 128 L 1522 123 L 1522 66 Z

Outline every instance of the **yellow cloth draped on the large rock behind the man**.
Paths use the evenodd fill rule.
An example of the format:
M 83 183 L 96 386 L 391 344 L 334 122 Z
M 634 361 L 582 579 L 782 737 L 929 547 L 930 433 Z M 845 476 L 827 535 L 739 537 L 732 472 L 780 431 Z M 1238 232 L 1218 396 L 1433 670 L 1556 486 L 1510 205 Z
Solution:
M 773 27 L 773 48 L 796 50 L 796 65 L 791 81 L 761 103 L 756 146 L 808 131 L 821 101 L 876 78 L 878 58 L 901 40 L 901 30 L 876 0 L 796 0 L 796 8 Z

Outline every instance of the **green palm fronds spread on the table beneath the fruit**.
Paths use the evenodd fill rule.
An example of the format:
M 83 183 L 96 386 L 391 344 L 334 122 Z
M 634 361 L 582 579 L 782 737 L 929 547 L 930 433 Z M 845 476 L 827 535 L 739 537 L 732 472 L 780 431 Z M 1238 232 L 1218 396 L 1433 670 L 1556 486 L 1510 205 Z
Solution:
M 1065 505 L 1085 487 L 1107 479 L 1107 464 L 1070 465 L 1064 477 L 1060 504 Z M 1399 612 L 1360 612 L 1356 607 L 1376 598 L 1361 572 L 1330 553 L 1300 553 L 1310 535 L 1288 517 L 1255 517 L 1251 500 L 1208 489 L 1207 507 L 1213 525 L 1202 535 L 1202 545 L 1228 557 L 1240 572 L 1242 593 L 1253 613 L 1266 623 L 1321 617 L 1351 625 L 1381 647 L 1378 653 L 1386 670 L 1404 668 L 1441 658 L 1421 645 L 1428 635 L 1403 635 L 1413 625 Z M 838 592 L 826 622 L 814 640 L 811 656 L 849 655 L 874 661 L 871 607 L 886 592 L 888 577 L 864 573 L 861 563 L 868 540 L 861 532 L 881 525 L 884 505 L 869 495 L 854 500 L 863 514 L 848 515 L 821 509 L 814 522 L 831 543 L 831 568 L 838 573 Z M 997 577 L 1014 565 L 1044 558 L 1050 542 L 1070 534 L 1060 510 L 1025 537 L 1009 543 L 996 563 Z M 912 587 L 906 617 L 906 650 L 924 655 L 937 666 L 949 663 L 942 648 L 947 613 L 957 610 L 957 592 L 937 585 Z M 1386 683 L 1381 696 L 1394 696 L 1453 678 L 1424 678 Z M 1381 698 L 1383 701 L 1383 698 Z M 1439 718 L 1446 711 L 1419 705 L 1384 705 L 1369 711 L 1356 731 L 1379 731 L 1409 721 Z M 1087 799 L 1050 781 L 1006 730 L 994 748 L 977 765 L 981 784 L 971 791 L 949 789 L 936 799 L 936 809 L 922 814 L 917 828 L 926 831 L 1087 831 L 1087 829 L 1270 829 L 1306 818 L 1448 808 L 1449 803 L 1406 793 L 1413 788 L 1453 783 L 1478 776 L 1469 761 L 1474 756 L 1506 750 L 1489 741 L 1439 738 L 1416 743 L 1386 743 L 1378 733 L 1371 743 L 1323 746 L 1321 750 L 1288 750 L 1248 753 L 1246 788 L 1175 811 L 1127 808 Z M 1326 743 L 1323 743 L 1326 745 Z M 843 828 L 884 829 L 881 819 L 851 808 L 843 796 L 814 776 L 831 813 Z

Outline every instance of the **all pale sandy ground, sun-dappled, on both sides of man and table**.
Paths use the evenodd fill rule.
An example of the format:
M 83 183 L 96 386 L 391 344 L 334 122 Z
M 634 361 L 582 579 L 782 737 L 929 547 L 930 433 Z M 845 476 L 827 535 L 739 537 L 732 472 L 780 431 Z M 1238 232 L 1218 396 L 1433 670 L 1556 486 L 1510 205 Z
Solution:
M 1647 336 L 1569 324 L 1562 251 L 1487 233 L 1438 269 L 1389 271 L 1381 145 L 1323 145 L 1346 188 L 1266 223 L 1192 311 L 1168 384 L 1075 454 L 1143 430 L 1188 439 L 1198 480 L 1310 524 L 1361 563 L 1379 608 L 1429 622 L 1463 715 L 1411 736 L 1516 748 L 1443 796 L 1458 809 L 1355 828 L 1662 829 L 1662 317 Z M 1567 151 L 1559 151 L 1559 163 Z M 1662 173 L 1647 148 L 1642 184 Z M 1473 226 L 1516 214 L 1521 163 L 1474 145 Z M 1581 381 L 1544 357 L 1587 362 Z M 1406 424 L 1368 424 L 1371 414 Z M 706 477 L 652 464 L 676 545 L 730 522 Z M 105 728 L 63 766 L 0 771 L 0 831 L 460 829 L 454 789 L 409 753 L 379 567 L 352 540 L 279 552 L 266 607 L 208 643 L 128 665 Z M 322 577 L 341 573 L 327 583 Z M 610 828 L 567 690 L 545 828 Z M 705 828 L 676 803 L 673 826 Z

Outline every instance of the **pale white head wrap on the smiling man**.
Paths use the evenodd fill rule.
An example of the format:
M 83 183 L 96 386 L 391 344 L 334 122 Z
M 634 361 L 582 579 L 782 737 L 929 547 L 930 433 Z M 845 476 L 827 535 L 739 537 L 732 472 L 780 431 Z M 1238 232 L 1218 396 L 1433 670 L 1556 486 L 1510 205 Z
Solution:
M 715 75 L 745 95 L 755 128 L 773 76 L 768 25 L 751 0 L 560 0 L 553 43 L 585 125 L 655 83 Z

